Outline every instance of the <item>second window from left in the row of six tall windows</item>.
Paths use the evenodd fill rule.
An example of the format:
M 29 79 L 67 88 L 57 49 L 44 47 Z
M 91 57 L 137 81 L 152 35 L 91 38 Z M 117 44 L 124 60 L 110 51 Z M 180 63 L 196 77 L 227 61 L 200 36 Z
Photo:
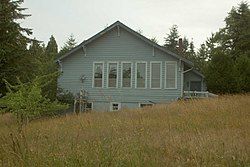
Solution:
M 117 63 L 108 63 L 108 87 L 117 87 Z

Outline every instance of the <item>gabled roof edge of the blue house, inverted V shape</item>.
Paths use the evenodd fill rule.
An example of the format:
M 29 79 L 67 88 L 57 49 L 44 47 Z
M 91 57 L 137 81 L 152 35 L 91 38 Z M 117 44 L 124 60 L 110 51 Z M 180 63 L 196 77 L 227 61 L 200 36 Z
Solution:
M 146 38 L 145 36 L 139 34 L 138 32 L 132 30 L 131 28 L 129 28 L 128 26 L 126 26 L 125 24 L 121 23 L 120 21 L 116 21 L 115 23 L 113 23 L 112 25 L 110 25 L 109 27 L 105 28 L 104 30 L 102 30 L 101 32 L 97 33 L 96 35 L 92 36 L 91 38 L 83 41 L 82 43 L 80 43 L 79 45 L 77 45 L 76 47 L 74 47 L 72 50 L 70 50 L 68 53 L 66 53 L 65 55 L 61 56 L 58 60 L 62 60 L 63 58 L 69 56 L 70 54 L 74 53 L 75 51 L 77 51 L 78 49 L 83 48 L 85 45 L 89 44 L 90 42 L 94 41 L 95 39 L 101 37 L 103 34 L 107 33 L 108 31 L 110 31 L 111 29 L 115 28 L 115 27 L 121 27 L 125 30 L 127 30 L 128 32 L 130 32 L 131 34 L 137 36 L 138 38 L 140 38 L 141 40 L 145 41 L 146 43 L 149 43 L 150 45 L 152 45 L 153 47 L 173 56 L 176 57 L 177 59 L 182 60 L 183 62 L 193 66 L 193 63 L 184 58 L 183 56 L 180 56 L 176 53 L 173 53 L 169 50 L 167 50 L 165 47 L 160 46 L 159 44 L 151 41 L 150 39 Z

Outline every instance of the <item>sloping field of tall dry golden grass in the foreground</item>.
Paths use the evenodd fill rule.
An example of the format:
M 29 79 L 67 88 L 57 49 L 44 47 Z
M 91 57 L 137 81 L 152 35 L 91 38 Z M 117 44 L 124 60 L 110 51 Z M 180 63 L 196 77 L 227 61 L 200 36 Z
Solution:
M 250 95 L 37 120 L 0 116 L 2 166 L 250 166 Z

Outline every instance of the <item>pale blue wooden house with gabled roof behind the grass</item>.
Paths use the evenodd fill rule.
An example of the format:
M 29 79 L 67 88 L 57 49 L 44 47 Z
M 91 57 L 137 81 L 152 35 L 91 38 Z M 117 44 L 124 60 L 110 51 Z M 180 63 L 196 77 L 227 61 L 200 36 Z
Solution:
M 204 91 L 204 76 L 186 58 L 117 21 L 58 59 L 58 86 L 84 96 L 85 108 L 114 111 L 166 103 Z

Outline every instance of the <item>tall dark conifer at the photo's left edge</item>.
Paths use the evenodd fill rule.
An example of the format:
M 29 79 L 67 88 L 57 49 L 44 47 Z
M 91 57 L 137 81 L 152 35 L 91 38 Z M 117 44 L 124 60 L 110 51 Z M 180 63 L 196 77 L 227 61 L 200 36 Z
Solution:
M 29 78 L 32 60 L 27 58 L 27 44 L 31 30 L 20 25 L 21 19 L 30 16 L 22 14 L 23 1 L 1 0 L 0 6 L 0 94 L 6 93 L 3 79 L 16 83 L 16 77 Z

